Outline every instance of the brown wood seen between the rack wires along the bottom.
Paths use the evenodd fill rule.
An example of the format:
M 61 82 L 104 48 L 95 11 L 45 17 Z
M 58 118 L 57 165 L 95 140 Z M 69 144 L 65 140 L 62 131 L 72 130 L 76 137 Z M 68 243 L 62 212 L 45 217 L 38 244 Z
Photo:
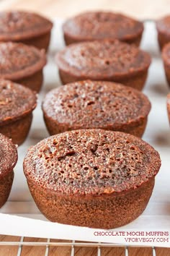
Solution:
M 3 242 L 19 242 L 19 236 L 0 236 Z M 24 242 L 46 242 L 47 239 L 24 238 Z M 71 242 L 66 240 L 50 239 L 50 242 Z M 21 256 L 43 256 L 45 247 L 23 246 Z M 18 247 L 0 246 L 0 256 L 17 256 Z M 102 247 L 102 256 L 124 256 L 124 247 Z M 145 247 L 130 247 L 129 256 L 152 256 L 152 249 Z M 70 256 L 71 247 L 50 247 L 48 256 Z M 97 247 L 75 247 L 75 256 L 95 256 Z M 169 256 L 170 248 L 156 248 L 156 256 Z

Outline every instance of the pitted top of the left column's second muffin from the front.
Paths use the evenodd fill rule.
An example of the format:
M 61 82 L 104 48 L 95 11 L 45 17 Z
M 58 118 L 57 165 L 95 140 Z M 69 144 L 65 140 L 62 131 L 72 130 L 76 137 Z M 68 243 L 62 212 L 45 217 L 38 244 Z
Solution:
M 0 126 L 20 119 L 37 106 L 35 92 L 8 80 L 0 80 Z

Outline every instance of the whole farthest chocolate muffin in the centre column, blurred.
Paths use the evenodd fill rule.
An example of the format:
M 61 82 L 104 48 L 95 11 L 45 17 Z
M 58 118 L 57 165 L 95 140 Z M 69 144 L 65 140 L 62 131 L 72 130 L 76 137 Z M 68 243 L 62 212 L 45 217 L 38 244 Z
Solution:
M 142 22 L 113 12 L 85 12 L 63 24 L 67 45 L 87 40 L 118 39 L 139 46 L 142 33 Z

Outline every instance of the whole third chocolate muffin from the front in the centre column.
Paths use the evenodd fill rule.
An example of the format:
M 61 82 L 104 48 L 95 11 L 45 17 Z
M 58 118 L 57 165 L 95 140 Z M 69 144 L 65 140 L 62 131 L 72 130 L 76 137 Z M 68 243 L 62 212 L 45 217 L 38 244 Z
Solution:
M 67 46 L 58 52 L 56 61 L 63 84 L 86 79 L 104 80 L 141 90 L 151 58 L 128 43 L 100 40 Z

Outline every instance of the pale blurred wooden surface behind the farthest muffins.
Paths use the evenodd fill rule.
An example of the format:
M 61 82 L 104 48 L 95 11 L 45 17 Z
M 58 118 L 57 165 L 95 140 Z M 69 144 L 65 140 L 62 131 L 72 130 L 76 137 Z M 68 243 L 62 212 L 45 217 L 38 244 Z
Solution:
M 134 17 L 157 18 L 170 12 L 169 0 L 1 0 L 0 10 L 26 9 L 48 17 L 69 17 L 90 9 L 125 12 Z

